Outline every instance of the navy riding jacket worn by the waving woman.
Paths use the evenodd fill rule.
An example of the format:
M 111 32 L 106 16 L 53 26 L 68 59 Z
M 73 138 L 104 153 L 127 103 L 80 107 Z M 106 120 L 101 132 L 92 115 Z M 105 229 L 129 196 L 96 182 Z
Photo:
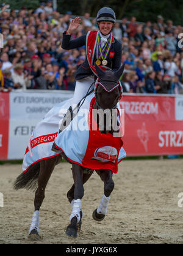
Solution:
M 70 40 L 71 35 L 68 35 L 66 34 L 66 32 L 63 32 L 62 48 L 64 50 L 72 50 L 74 48 L 82 47 L 86 45 L 86 37 L 87 37 L 87 34 L 85 34 L 84 36 L 78 37 L 77 39 Z M 109 55 L 106 58 L 107 60 L 106 66 L 110 67 L 110 69 L 112 69 L 113 72 L 117 71 L 121 67 L 121 54 L 122 54 L 121 43 L 118 42 L 118 40 L 115 39 L 115 37 L 114 37 L 114 40 L 115 42 L 112 43 L 109 50 L 109 55 L 110 55 L 110 52 L 113 53 L 112 55 L 110 55 L 110 56 L 113 56 L 113 58 L 109 57 Z M 96 56 L 94 57 L 93 61 L 94 62 L 96 61 Z M 94 75 L 94 74 L 90 69 L 87 58 L 85 58 L 85 61 L 81 65 L 77 66 L 75 78 L 76 80 L 80 80 L 90 75 Z

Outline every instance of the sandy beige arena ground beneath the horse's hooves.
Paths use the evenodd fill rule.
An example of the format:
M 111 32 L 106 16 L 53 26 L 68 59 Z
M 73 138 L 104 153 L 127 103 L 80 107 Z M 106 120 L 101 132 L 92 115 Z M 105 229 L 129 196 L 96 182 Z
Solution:
M 183 243 L 183 159 L 123 160 L 113 177 L 106 218 L 96 222 L 92 213 L 103 194 L 103 183 L 94 173 L 84 185 L 84 217 L 77 238 L 65 235 L 71 213 L 66 192 L 73 184 L 71 165 L 57 165 L 40 209 L 41 241 L 27 238 L 34 212 L 34 192 L 15 191 L 13 181 L 21 165 L 0 165 L 0 244 L 2 243 Z M 181 203 L 181 201 L 180 201 Z M 183 201 L 182 201 L 183 205 Z

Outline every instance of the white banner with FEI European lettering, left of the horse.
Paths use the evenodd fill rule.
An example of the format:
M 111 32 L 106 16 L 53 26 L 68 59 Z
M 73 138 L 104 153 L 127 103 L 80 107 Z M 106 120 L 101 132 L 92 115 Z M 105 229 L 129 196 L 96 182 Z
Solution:
M 11 92 L 8 159 L 23 159 L 36 124 L 54 105 L 71 97 L 70 91 Z

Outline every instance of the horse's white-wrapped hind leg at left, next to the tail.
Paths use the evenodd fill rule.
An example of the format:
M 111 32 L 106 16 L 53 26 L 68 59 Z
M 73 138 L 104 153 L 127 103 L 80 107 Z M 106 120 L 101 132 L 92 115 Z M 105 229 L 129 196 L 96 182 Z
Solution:
M 29 229 L 30 239 L 35 239 L 35 240 L 40 239 L 40 236 L 38 235 L 40 207 L 45 198 L 46 185 L 48 184 L 49 178 L 50 178 L 51 173 L 54 170 L 54 167 L 57 163 L 58 157 L 59 156 L 40 161 L 40 172 L 39 172 L 39 176 L 38 176 L 38 188 L 35 191 L 35 198 L 34 198 L 35 211 L 32 216 L 32 222 L 30 224 L 30 229 Z

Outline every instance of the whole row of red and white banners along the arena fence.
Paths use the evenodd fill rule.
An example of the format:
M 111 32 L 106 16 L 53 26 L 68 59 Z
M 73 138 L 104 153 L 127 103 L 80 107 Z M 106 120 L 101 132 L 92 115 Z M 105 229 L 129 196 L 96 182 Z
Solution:
M 35 125 L 71 91 L 0 92 L 0 159 L 23 159 Z M 123 94 L 127 156 L 183 154 L 183 96 Z

